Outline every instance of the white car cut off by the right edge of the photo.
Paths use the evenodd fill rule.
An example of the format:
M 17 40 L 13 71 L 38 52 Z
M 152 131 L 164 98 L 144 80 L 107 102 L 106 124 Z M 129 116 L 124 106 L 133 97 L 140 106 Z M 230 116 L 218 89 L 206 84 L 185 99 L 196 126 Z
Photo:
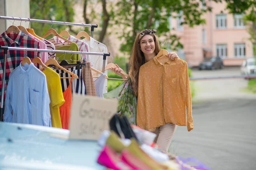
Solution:
M 241 74 L 256 74 L 256 60 L 254 58 L 248 58 L 243 61 L 243 64 L 241 65 Z

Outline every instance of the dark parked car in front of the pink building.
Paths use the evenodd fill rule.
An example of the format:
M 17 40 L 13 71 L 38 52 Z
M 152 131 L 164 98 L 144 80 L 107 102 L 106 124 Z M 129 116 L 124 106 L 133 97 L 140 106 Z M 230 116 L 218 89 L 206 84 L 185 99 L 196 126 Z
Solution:
M 223 61 L 220 57 L 207 57 L 199 65 L 199 70 L 204 70 L 204 69 L 215 70 L 215 69 L 222 69 L 222 68 L 223 68 Z

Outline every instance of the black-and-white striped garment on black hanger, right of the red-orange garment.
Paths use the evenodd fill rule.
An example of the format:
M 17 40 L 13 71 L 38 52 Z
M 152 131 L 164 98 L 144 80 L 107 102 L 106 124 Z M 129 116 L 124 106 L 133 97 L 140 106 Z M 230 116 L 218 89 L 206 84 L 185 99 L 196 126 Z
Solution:
M 76 67 L 66 68 L 66 69 L 76 74 L 79 77 L 79 79 L 73 79 L 72 81 L 72 86 L 71 86 L 72 93 L 86 94 L 85 85 L 84 85 L 83 77 L 81 74 L 82 67 L 80 66 L 79 71 L 76 69 Z M 62 92 L 64 92 L 67 89 L 68 85 L 70 84 L 72 75 L 68 74 L 63 70 L 54 69 L 54 71 L 58 73 L 60 77 L 70 77 L 70 79 L 61 79 L 61 88 L 62 88 Z

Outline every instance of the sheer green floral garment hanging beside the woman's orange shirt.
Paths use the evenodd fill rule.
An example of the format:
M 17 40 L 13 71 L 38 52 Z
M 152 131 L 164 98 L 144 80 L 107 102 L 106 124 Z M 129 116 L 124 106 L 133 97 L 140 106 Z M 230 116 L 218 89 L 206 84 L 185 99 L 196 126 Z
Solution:
M 114 90 L 103 94 L 103 96 L 106 99 L 117 99 L 117 114 L 127 116 L 131 124 L 136 125 L 137 99 L 132 90 L 130 77 Z

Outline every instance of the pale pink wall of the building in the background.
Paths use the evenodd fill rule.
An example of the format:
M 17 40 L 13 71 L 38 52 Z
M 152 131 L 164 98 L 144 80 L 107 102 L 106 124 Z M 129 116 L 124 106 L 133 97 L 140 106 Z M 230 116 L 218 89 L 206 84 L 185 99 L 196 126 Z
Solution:
M 183 43 L 183 51 L 185 52 L 185 59 L 190 66 L 198 66 L 200 62 L 205 57 L 215 57 L 216 45 L 217 44 L 227 44 L 227 57 L 223 58 L 224 65 L 241 65 L 245 58 L 253 57 L 253 44 L 250 42 L 250 34 L 248 34 L 247 29 L 244 28 L 234 28 L 234 17 L 233 14 L 228 14 L 225 10 L 226 3 L 214 3 L 206 1 L 207 6 L 212 6 L 212 12 L 207 12 L 204 14 L 203 18 L 206 20 L 206 24 L 201 26 L 195 26 L 189 28 L 188 26 L 183 26 L 183 31 L 174 31 L 181 37 L 181 42 Z M 216 28 L 216 15 L 227 14 L 227 28 L 217 29 Z M 173 26 L 177 28 L 176 19 L 172 20 Z M 203 43 L 203 29 L 206 30 L 206 43 Z M 234 44 L 244 43 L 245 53 L 244 58 L 235 58 L 234 54 Z

